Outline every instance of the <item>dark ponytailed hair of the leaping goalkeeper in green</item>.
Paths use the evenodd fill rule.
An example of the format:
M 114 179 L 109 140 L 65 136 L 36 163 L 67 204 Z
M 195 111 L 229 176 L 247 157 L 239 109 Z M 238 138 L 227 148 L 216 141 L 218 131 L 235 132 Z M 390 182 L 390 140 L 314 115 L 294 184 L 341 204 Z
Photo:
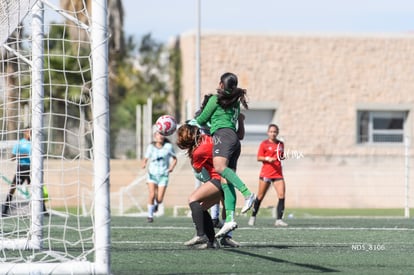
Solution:
M 233 73 L 225 73 L 220 77 L 220 83 L 223 84 L 223 89 L 217 90 L 217 103 L 223 109 L 233 106 L 240 100 L 240 103 L 245 109 L 249 109 L 246 99 L 246 90 L 237 87 L 238 79 Z

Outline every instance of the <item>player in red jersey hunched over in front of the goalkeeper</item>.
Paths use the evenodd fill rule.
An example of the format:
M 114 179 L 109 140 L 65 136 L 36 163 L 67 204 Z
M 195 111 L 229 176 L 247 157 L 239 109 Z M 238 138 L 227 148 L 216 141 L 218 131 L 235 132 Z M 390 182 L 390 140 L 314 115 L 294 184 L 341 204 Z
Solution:
M 213 166 L 212 137 L 204 134 L 197 126 L 183 124 L 177 130 L 177 146 L 187 150 L 194 174 L 203 182 L 188 199 L 197 234 L 184 244 L 198 245 L 197 248 L 217 248 L 214 225 L 208 209 L 223 200 L 223 191 L 221 176 Z M 232 240 L 229 233 L 223 236 L 220 244 L 227 247 L 240 246 Z

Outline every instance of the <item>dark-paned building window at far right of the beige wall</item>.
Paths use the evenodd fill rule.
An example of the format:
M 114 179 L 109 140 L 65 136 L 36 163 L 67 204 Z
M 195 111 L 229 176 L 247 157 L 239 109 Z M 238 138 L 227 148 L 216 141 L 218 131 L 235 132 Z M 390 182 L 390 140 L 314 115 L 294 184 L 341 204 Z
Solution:
M 358 111 L 357 142 L 403 143 L 407 111 Z

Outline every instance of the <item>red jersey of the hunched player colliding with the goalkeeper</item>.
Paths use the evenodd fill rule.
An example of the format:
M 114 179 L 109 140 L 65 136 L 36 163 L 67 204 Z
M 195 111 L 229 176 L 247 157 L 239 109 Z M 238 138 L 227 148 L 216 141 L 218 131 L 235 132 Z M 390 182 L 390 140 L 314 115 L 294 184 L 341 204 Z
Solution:
M 202 135 L 198 147 L 193 152 L 191 165 L 197 171 L 205 168 L 212 179 L 221 179 L 213 166 L 213 139 L 209 135 Z

